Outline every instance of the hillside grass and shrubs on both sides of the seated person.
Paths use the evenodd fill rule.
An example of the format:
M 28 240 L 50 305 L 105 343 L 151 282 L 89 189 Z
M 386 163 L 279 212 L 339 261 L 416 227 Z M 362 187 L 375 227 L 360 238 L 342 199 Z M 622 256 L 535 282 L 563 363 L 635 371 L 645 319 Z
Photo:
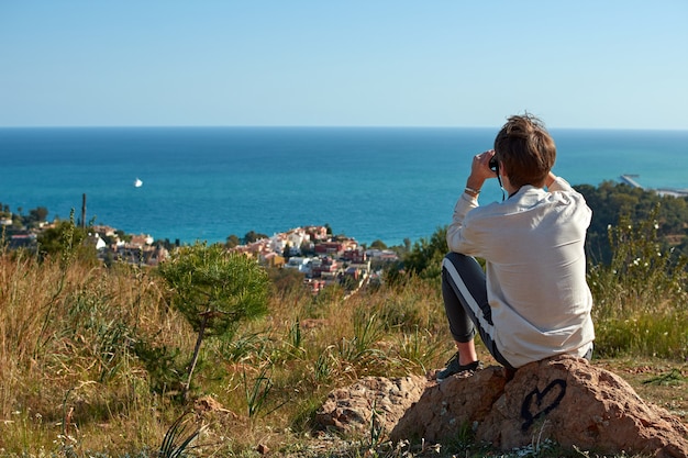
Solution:
M 585 191 L 590 198 L 604 189 Z M 685 395 L 688 270 L 677 249 L 685 241 L 667 242 L 665 201 L 645 206 L 644 199 L 632 205 L 647 210 L 642 217 L 625 212 L 595 222 L 610 247 L 608 261 L 589 268 L 595 358 L 659 358 Z M 678 202 L 672 205 L 685 209 Z M 686 221 L 670 234 L 685 239 Z M 178 275 L 184 269 L 165 277 L 144 266 L 104 267 L 68 237 L 45 257 L 0 252 L 0 456 L 258 456 L 259 445 L 277 455 L 400 456 L 379 448 L 374 431 L 337 451 L 334 439 L 329 450 L 311 448 L 322 434 L 313 414 L 328 392 L 363 376 L 444 366 L 453 345 L 439 280 L 443 234 L 418 241 L 402 265 L 388 267 L 386 281 L 353 295 L 337 286 L 312 295 L 298 276 L 268 271 L 279 281 L 267 283 L 266 309 L 260 302 L 260 313 L 232 315 L 202 345 L 198 320 L 178 303 L 179 282 L 202 282 L 185 302 L 206 304 L 199 314 L 228 316 L 244 297 L 230 288 L 213 290 L 210 302 L 199 299 L 224 278 L 212 262 L 189 282 Z M 235 278 L 232 266 L 228 276 Z M 263 284 L 262 275 L 251 278 Z M 208 404 L 215 409 L 201 431 L 187 413 Z M 465 456 L 488 454 L 469 437 L 460 447 Z

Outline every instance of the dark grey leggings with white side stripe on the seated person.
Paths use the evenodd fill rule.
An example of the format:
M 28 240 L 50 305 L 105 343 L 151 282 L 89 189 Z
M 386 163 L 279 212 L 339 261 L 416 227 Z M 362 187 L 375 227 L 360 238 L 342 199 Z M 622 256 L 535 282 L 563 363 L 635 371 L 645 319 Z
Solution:
M 507 369 L 515 370 L 495 344 L 492 310 L 487 301 L 485 271 L 470 256 L 450 253 L 442 261 L 442 298 L 454 340 L 470 342 L 477 332 L 492 357 Z M 585 356 L 590 360 L 592 348 Z

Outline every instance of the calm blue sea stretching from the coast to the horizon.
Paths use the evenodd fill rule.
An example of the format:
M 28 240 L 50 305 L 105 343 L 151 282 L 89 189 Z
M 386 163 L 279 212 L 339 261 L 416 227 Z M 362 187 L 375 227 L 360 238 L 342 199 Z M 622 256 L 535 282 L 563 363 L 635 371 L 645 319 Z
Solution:
M 359 243 L 400 245 L 450 222 L 471 157 L 497 131 L 0 129 L 0 202 L 64 220 L 80 217 L 86 194 L 87 222 L 181 243 L 326 223 Z M 636 174 L 647 188 L 688 188 L 688 131 L 551 133 L 554 171 L 572 185 Z M 480 201 L 501 198 L 489 180 Z

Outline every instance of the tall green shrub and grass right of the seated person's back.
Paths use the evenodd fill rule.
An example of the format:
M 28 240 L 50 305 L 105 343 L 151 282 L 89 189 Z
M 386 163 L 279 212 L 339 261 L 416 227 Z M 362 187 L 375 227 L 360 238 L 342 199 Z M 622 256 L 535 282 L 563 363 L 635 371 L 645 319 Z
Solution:
M 656 210 L 609 227 L 612 259 L 591 265 L 596 351 L 685 358 L 688 356 L 688 258 L 664 248 Z

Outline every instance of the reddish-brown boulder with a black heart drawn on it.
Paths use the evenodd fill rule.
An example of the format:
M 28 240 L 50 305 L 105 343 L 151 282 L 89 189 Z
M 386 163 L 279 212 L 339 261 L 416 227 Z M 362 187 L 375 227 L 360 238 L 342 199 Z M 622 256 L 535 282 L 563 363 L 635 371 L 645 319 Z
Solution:
M 501 449 L 533 437 L 602 453 L 688 457 L 688 428 L 678 418 L 645 403 L 614 373 L 574 357 L 519 369 L 477 429 L 478 439 Z

